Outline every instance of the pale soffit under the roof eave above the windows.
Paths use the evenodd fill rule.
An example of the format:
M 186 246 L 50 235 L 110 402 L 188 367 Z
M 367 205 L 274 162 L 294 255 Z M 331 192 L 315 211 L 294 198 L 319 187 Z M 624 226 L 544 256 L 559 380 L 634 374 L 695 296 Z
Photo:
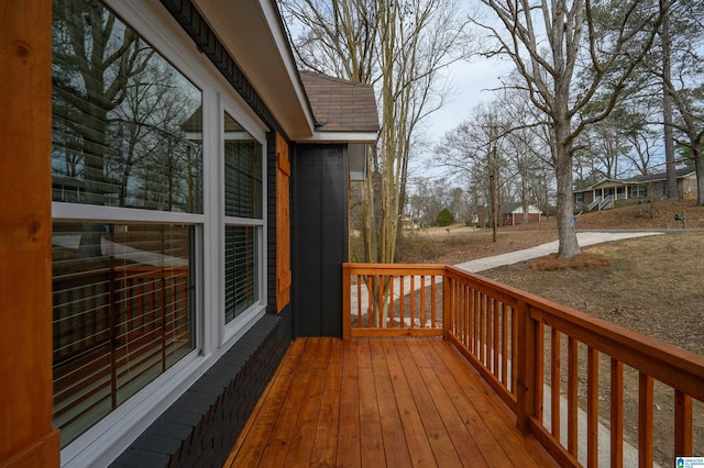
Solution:
M 315 120 L 273 1 L 193 0 L 284 132 L 306 140 Z

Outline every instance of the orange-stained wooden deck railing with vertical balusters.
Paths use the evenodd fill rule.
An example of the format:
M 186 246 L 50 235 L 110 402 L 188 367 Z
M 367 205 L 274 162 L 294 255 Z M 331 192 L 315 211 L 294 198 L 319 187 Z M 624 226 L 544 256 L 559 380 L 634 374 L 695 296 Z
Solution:
M 704 401 L 704 356 L 690 353 L 676 346 L 662 343 L 649 336 L 627 330 L 610 322 L 593 317 L 574 309 L 563 307 L 502 285 L 497 281 L 470 274 L 452 266 L 442 265 L 343 265 L 343 330 L 344 338 L 352 336 L 375 336 L 395 333 L 414 335 L 413 328 L 402 326 L 383 330 L 380 327 L 352 326 L 351 303 L 358 296 L 361 283 L 370 283 L 370 278 L 413 278 L 432 276 L 436 279 L 433 293 L 442 294 L 435 311 L 443 336 L 483 376 L 497 394 L 514 410 L 518 427 L 534 435 L 548 452 L 563 466 L 579 466 L 586 461 L 596 463 L 600 414 L 600 374 L 610 376 L 610 463 L 620 466 L 624 460 L 624 411 L 623 398 L 627 393 L 624 385 L 624 366 L 634 368 L 640 376 L 638 388 L 629 389 L 638 395 L 638 459 L 650 464 L 653 459 L 653 381 L 674 389 L 674 445 L 675 456 L 692 454 L 692 401 Z M 356 279 L 353 287 L 352 280 Z M 442 281 L 442 288 L 437 283 Z M 422 288 L 429 288 L 424 283 Z M 438 290 L 436 290 L 436 288 Z M 382 308 L 386 302 L 396 304 L 409 301 L 422 293 L 403 290 L 402 297 L 377 287 L 370 296 Z M 397 289 L 393 294 L 399 292 Z M 435 301 L 432 307 L 435 307 Z M 367 308 L 371 307 L 367 304 Z M 411 322 L 413 324 L 413 322 Z M 435 323 L 433 323 L 435 325 Z M 409 330 L 410 328 L 410 330 Z M 430 328 L 436 334 L 435 326 Z M 421 334 L 421 333 L 417 333 Z M 561 339 L 564 336 L 566 339 Z M 586 349 L 582 359 L 581 347 Z M 562 349 L 562 352 L 561 352 Z M 562 353 L 565 353 L 562 356 Z M 609 366 L 600 368 L 600 355 L 610 360 Z M 582 359 L 582 360 L 581 360 Z M 586 372 L 586 404 L 579 405 L 579 369 Z M 564 374 L 561 374 L 564 372 Z M 550 382 L 566 378 L 566 391 L 562 386 L 553 389 Z M 548 380 L 546 380 L 548 379 Z M 547 394 L 548 421 L 543 421 L 543 392 Z M 564 401 L 563 401 L 564 400 Z M 561 438 L 562 406 L 566 410 L 566 443 Z M 586 412 L 586 423 L 582 426 L 578 413 Z M 586 453 L 578 453 L 578 441 L 584 437 Z M 658 442 L 659 444 L 662 441 Z

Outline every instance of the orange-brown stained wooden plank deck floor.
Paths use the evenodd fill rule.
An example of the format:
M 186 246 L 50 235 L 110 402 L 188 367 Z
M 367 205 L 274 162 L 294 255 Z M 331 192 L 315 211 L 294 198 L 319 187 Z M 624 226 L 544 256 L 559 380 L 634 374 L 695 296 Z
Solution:
M 446 341 L 298 338 L 226 466 L 557 464 Z

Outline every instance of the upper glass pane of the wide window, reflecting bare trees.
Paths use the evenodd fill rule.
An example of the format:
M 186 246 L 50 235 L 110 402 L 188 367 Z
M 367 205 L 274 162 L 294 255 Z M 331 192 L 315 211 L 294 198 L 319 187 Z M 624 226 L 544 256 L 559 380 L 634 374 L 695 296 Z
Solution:
M 53 34 L 54 201 L 202 213 L 200 90 L 97 2 Z

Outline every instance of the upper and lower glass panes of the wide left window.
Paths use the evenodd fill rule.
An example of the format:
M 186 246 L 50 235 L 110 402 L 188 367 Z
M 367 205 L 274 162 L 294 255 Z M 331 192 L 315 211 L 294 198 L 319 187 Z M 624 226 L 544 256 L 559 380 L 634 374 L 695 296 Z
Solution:
M 168 213 L 202 213 L 202 99 L 97 2 L 55 1 L 53 62 L 54 201 L 77 218 L 79 204 L 166 212 L 150 224 L 106 222 L 113 212 L 102 211 L 54 223 L 54 422 L 65 446 L 196 347 L 196 226 Z

